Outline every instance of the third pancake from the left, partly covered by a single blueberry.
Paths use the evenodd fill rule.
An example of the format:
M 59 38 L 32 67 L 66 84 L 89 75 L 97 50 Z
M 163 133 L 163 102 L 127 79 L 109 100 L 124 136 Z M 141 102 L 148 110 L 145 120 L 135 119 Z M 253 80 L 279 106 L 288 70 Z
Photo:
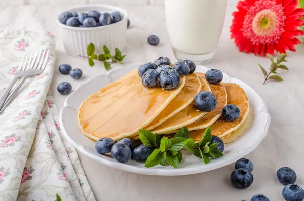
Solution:
M 199 76 L 199 78 L 202 83 L 202 89 L 200 90 L 200 92 L 211 92 L 211 89 L 207 82 L 201 76 Z M 205 114 L 206 112 L 199 111 L 195 107 L 194 101 L 192 101 L 191 104 L 189 104 L 185 109 L 181 110 L 171 118 L 167 119 L 163 124 L 151 130 L 151 132 L 157 134 L 168 134 L 174 130 L 177 130 L 195 122 L 197 119 L 203 117 Z

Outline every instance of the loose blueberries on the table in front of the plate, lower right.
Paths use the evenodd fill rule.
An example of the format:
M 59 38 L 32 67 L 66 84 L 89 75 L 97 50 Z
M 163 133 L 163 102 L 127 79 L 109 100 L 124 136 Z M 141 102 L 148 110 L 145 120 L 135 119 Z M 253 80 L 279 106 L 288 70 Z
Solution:
M 253 183 L 253 163 L 246 158 L 241 158 L 235 163 L 235 169 L 230 175 L 230 181 L 234 187 L 244 189 Z M 296 173 L 288 167 L 282 167 L 277 171 L 277 179 L 285 187 L 282 195 L 286 201 L 302 201 L 304 200 L 304 190 L 294 184 L 296 181 Z M 269 201 L 265 195 L 254 195 L 251 201 Z

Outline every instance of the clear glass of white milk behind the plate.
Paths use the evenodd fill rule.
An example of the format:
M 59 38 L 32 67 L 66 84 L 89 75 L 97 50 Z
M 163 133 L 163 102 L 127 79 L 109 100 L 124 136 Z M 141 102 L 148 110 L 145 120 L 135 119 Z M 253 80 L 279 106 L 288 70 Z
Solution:
M 178 60 L 207 63 L 222 31 L 227 0 L 165 0 L 166 23 Z

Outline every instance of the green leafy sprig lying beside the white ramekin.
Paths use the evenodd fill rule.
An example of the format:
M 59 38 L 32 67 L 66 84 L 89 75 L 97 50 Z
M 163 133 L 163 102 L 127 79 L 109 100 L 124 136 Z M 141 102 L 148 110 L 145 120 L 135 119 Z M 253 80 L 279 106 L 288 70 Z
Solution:
M 87 47 L 87 55 L 88 56 L 82 56 L 78 55 L 79 57 L 86 57 L 88 58 L 88 62 L 90 66 L 94 66 L 94 61 L 96 60 L 98 62 L 102 62 L 105 69 L 109 70 L 111 69 L 111 63 L 120 63 L 122 64 L 123 59 L 126 57 L 126 55 L 122 55 L 121 51 L 118 48 L 115 48 L 115 55 L 111 55 L 109 48 L 106 45 L 103 45 L 103 53 L 100 55 L 95 54 L 95 45 L 93 43 L 90 43 Z

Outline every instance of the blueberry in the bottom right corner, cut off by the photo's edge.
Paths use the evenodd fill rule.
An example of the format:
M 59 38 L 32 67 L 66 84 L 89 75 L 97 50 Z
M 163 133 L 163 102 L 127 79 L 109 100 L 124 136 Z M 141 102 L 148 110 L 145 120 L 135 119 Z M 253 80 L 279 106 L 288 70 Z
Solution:
M 283 197 L 287 201 L 304 200 L 304 190 L 296 184 L 288 184 L 283 188 Z

